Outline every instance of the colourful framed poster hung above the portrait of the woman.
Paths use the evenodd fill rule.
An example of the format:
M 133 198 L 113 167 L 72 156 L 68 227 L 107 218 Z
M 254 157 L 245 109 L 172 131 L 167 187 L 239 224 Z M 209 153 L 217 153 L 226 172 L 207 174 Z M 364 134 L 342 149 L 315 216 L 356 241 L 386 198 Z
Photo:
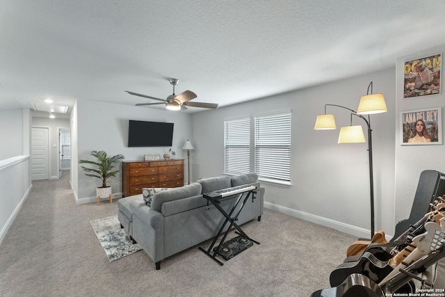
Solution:
M 442 54 L 405 62 L 403 97 L 440 93 Z

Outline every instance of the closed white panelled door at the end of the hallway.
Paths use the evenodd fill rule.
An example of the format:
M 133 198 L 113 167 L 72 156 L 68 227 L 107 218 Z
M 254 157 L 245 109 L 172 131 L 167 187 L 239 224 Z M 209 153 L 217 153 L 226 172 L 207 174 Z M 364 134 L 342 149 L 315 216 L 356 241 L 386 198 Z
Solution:
M 31 180 L 49 179 L 48 159 L 48 128 L 33 128 L 31 131 Z

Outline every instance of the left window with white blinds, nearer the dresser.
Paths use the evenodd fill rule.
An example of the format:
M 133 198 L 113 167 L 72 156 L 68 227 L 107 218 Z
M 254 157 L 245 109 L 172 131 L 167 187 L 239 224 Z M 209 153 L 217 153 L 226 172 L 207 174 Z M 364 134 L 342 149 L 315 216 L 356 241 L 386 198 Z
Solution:
M 250 118 L 224 122 L 224 171 L 229 174 L 250 172 Z

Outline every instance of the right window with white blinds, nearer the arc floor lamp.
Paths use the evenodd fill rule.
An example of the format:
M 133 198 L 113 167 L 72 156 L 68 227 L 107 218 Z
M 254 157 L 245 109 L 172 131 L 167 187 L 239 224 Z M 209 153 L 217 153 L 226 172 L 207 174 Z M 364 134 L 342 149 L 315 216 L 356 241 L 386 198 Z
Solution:
M 291 182 L 291 112 L 254 117 L 254 167 L 259 178 Z

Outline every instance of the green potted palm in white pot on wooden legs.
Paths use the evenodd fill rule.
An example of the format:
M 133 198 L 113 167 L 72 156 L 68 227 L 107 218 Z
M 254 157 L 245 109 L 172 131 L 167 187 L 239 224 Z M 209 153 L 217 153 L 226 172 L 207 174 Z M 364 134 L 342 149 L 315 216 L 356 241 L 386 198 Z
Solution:
M 120 170 L 113 170 L 115 163 L 118 163 L 124 159 L 124 156 L 122 154 L 117 154 L 115 156 L 107 156 L 106 152 L 91 151 L 91 156 L 94 156 L 96 159 L 95 161 L 90 160 L 80 160 L 79 163 L 86 163 L 93 166 L 93 168 L 88 168 L 85 166 L 81 166 L 81 168 L 85 172 L 91 172 L 86 173 L 85 175 L 89 177 L 97 177 L 102 181 L 102 186 L 98 186 L 96 188 L 96 196 L 97 196 L 97 204 L 99 204 L 100 198 L 108 198 L 111 203 L 112 198 L 112 189 L 111 186 L 106 185 L 106 180 L 110 177 L 115 177 Z

